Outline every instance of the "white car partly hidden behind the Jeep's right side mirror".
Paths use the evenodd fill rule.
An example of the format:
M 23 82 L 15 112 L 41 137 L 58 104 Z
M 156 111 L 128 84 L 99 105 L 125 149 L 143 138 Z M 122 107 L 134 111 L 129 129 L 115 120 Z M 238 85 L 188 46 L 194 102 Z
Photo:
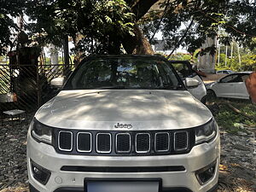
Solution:
M 181 79 L 183 79 L 183 83 L 185 84 L 186 78 L 193 78 L 196 79 L 199 82 L 198 86 L 195 87 L 187 87 L 189 90 L 189 93 L 192 96 L 195 96 L 196 99 L 201 101 L 202 103 L 207 102 L 207 89 L 202 81 L 201 77 L 195 73 L 195 70 L 192 69 L 192 65 L 189 63 L 189 61 L 170 61 L 172 63 L 172 66 L 177 71 L 178 75 Z

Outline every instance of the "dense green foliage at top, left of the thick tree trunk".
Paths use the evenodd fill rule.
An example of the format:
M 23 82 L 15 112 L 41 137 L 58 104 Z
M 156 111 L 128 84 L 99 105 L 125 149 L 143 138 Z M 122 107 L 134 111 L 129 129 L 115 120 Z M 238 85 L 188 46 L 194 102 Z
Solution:
M 82 39 L 76 49 L 89 53 L 113 53 L 119 39 L 132 34 L 133 14 L 124 0 L 32 0 L 26 14 L 35 22 L 28 26 L 31 34 L 39 34 L 39 44 L 61 44 L 65 36 Z M 118 50 L 119 51 L 119 50 Z

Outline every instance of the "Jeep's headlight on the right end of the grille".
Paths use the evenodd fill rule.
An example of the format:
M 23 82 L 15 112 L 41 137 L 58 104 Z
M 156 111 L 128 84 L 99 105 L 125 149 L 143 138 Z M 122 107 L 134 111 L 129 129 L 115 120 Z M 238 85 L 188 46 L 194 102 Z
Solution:
M 201 125 L 195 130 L 195 144 L 211 142 L 217 135 L 217 123 L 212 119 L 206 125 Z

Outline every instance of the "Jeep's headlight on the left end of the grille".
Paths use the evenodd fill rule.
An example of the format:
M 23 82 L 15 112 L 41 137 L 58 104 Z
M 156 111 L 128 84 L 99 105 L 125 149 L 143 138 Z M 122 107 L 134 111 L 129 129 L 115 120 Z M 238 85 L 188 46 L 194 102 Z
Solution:
M 32 134 L 32 137 L 34 137 L 34 139 L 36 139 L 38 142 L 43 142 L 48 144 L 52 143 L 52 131 L 53 131 L 52 127 L 39 123 L 37 119 L 32 120 L 31 126 L 32 126 L 31 134 Z

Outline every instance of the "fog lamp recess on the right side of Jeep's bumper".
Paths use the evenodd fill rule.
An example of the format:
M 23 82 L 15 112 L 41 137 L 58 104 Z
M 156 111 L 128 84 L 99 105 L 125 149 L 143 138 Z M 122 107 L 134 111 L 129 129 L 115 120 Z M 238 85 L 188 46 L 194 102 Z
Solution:
M 214 176 L 216 169 L 216 160 L 212 162 L 210 165 L 205 166 L 204 168 L 195 172 L 195 176 L 197 177 L 198 182 L 203 185 L 210 181 Z

